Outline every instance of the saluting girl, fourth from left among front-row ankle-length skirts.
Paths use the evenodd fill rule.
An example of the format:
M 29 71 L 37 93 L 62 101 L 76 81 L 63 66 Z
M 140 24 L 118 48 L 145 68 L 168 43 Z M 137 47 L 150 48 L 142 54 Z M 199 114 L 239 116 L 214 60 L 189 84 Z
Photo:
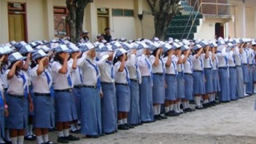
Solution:
M 141 43 L 138 44 L 138 47 L 141 47 L 138 50 L 138 67 L 141 70 L 141 84 L 139 87 L 140 90 L 140 106 L 141 106 L 141 122 L 142 123 L 151 123 L 154 121 L 153 114 L 153 98 L 152 98 L 152 82 L 153 82 L 153 73 L 152 65 L 148 59 L 150 55 L 150 49 L 147 44 Z

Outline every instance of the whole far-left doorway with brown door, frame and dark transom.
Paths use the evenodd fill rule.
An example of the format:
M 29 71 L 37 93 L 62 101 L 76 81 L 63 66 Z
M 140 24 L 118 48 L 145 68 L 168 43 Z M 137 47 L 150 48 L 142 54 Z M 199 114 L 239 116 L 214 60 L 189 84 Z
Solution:
M 9 41 L 27 41 L 26 3 L 8 3 Z

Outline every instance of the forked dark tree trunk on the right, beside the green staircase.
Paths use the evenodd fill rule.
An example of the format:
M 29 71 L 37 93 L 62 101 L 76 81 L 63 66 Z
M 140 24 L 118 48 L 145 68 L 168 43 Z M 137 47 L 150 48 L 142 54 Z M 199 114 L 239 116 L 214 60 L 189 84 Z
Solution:
M 170 21 L 182 10 L 180 0 L 147 0 L 154 15 L 155 37 L 164 39 Z

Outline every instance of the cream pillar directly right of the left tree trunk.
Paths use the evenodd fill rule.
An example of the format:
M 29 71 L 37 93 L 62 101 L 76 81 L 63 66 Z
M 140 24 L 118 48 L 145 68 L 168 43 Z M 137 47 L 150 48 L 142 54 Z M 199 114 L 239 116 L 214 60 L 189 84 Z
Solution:
M 86 6 L 86 30 L 89 32 L 90 42 L 95 42 L 98 25 L 97 25 L 97 8 L 95 7 L 95 2 L 88 3 Z

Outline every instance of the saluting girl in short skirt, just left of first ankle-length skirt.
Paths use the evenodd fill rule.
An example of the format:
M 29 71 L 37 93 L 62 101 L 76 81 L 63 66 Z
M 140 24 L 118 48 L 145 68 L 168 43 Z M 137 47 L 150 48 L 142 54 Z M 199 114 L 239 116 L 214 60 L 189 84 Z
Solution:
M 58 143 L 68 143 L 78 141 L 79 138 L 72 136 L 69 132 L 69 123 L 76 120 L 76 115 L 72 109 L 72 89 L 73 82 L 67 60 L 70 57 L 70 50 L 65 45 L 60 45 L 54 49 L 56 55 L 51 64 L 52 78 L 55 93 L 55 119 L 58 129 Z

